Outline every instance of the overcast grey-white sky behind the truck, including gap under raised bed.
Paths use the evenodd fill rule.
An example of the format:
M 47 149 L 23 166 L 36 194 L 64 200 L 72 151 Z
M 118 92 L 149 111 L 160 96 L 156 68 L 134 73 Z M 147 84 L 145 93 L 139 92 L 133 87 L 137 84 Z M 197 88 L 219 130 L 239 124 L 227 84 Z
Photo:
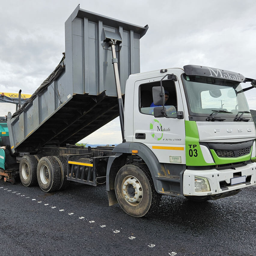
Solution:
M 148 24 L 140 41 L 141 72 L 194 64 L 256 78 L 256 1 L 0 0 L 0 91 L 32 94 L 47 78 L 65 51 L 64 23 L 79 3 L 88 11 Z M 256 110 L 256 89 L 246 97 Z M 82 141 L 120 143 L 119 119 Z

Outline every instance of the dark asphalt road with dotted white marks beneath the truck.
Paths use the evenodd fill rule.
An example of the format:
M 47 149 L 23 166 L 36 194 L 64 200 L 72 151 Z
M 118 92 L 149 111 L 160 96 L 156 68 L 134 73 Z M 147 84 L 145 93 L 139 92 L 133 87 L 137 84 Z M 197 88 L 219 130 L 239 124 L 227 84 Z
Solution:
M 108 206 L 105 185 L 65 191 L 0 180 L 1 255 L 256 255 L 256 186 L 206 203 L 162 197 L 149 217 Z

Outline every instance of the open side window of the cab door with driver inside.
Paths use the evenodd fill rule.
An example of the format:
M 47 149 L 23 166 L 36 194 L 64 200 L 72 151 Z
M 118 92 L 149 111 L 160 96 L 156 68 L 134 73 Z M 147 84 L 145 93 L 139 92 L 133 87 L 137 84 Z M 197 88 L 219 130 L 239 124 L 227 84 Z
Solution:
M 154 105 L 153 96 L 152 96 L 152 87 L 154 86 L 160 86 L 160 81 L 141 84 L 139 86 L 139 111 L 143 114 L 154 115 L 154 107 L 156 107 L 156 105 Z M 165 96 L 166 96 L 165 106 L 166 106 L 167 115 L 168 116 L 172 115 L 173 117 L 176 117 L 177 95 L 176 95 L 174 81 L 172 80 L 163 81 L 163 87 L 164 87 Z M 168 109 L 169 109 L 169 112 L 168 112 Z

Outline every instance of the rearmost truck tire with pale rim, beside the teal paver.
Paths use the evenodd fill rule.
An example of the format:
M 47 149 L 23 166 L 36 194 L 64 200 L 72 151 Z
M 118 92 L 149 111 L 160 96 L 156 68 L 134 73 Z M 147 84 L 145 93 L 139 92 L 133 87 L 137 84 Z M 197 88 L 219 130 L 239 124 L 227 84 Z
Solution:
M 20 160 L 20 181 L 25 187 L 37 185 L 37 160 L 32 155 L 23 156 Z

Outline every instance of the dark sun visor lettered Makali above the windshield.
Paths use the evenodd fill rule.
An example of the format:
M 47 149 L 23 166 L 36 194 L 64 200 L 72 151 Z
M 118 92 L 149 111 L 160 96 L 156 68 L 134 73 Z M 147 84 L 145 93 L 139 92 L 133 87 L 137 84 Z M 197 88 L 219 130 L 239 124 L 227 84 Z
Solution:
M 245 83 L 245 77 L 242 74 L 224 69 L 209 68 L 197 65 L 186 65 L 183 67 L 186 75 L 200 75 L 212 78 L 222 78 L 231 81 Z

